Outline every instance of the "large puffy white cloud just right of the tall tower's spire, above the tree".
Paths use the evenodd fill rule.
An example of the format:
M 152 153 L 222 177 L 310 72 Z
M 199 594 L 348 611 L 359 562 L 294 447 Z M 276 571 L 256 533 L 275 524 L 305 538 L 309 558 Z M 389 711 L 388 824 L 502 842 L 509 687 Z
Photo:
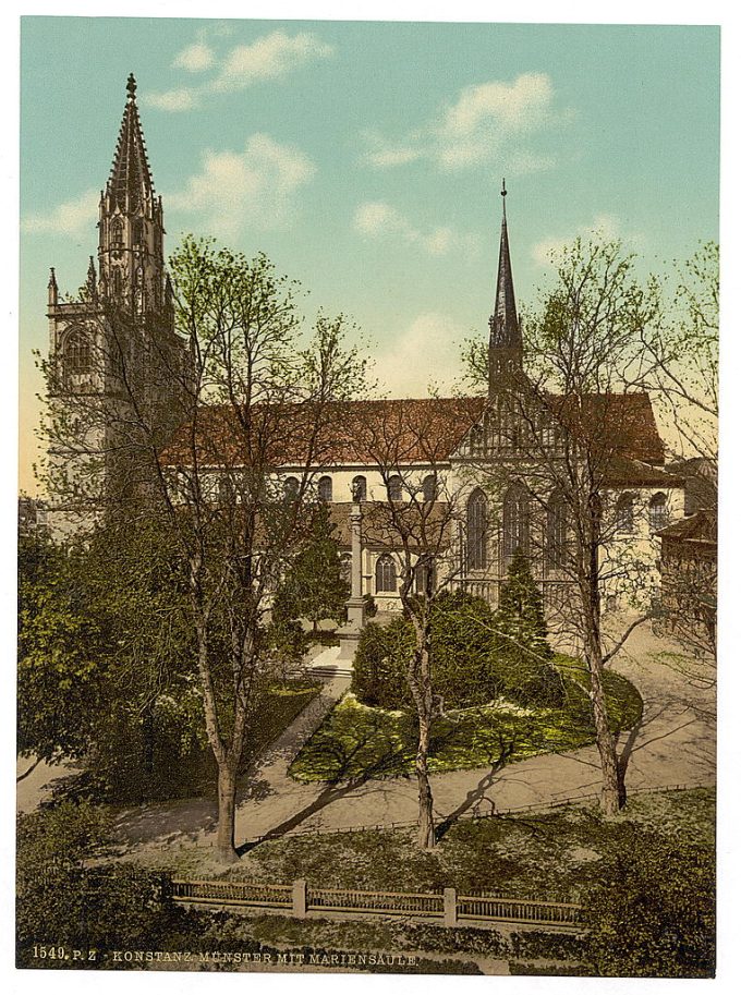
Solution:
M 168 194 L 167 204 L 171 210 L 198 214 L 209 234 L 234 239 L 246 226 L 282 226 L 293 209 L 294 194 L 315 172 L 300 149 L 255 134 L 243 151 L 207 149 L 201 172 L 182 191 Z

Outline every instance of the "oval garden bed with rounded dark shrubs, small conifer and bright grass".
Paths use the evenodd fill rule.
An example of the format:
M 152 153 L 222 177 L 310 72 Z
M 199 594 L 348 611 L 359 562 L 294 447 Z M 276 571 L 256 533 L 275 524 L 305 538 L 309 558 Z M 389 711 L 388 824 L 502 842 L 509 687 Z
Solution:
M 416 724 L 405 681 L 412 644 L 411 623 L 402 618 L 366 627 L 352 690 L 300 752 L 293 777 L 341 780 L 413 769 Z M 501 765 L 594 741 L 586 667 L 550 648 L 524 557 L 514 558 L 496 612 L 463 593 L 438 599 L 433 677 L 439 708 L 432 772 Z M 632 728 L 641 696 L 618 674 L 607 671 L 605 682 L 612 729 Z

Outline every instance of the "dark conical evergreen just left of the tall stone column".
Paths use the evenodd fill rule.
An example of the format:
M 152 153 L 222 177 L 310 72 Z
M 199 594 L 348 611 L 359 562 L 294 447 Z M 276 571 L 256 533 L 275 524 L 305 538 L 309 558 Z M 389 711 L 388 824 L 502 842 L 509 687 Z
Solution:
M 305 618 L 316 633 L 323 619 L 342 621 L 350 584 L 342 575 L 340 545 L 335 532 L 329 506 L 318 505 L 306 542 L 276 592 L 274 619 L 277 622 Z

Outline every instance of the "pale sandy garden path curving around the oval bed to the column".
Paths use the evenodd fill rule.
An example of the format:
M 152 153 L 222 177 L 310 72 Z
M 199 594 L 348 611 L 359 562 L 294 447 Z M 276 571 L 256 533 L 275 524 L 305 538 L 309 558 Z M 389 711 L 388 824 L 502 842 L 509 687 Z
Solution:
M 644 701 L 640 725 L 623 733 L 619 743 L 620 752 L 629 759 L 629 793 L 642 788 L 714 781 L 713 690 L 692 687 L 687 678 L 663 664 L 658 654 L 664 648 L 666 644 L 645 627 L 633 632 L 616 662 L 616 669 L 637 687 Z M 326 653 L 331 665 L 331 651 Z M 245 849 L 251 840 L 267 834 L 390 826 L 414 821 L 417 802 L 412 778 L 301 785 L 288 776 L 291 761 L 349 683 L 345 674 L 325 674 L 321 693 L 243 779 L 236 839 Z M 594 747 L 530 757 L 499 770 L 477 768 L 432 777 L 435 810 L 441 823 L 470 814 L 474 809 L 487 814 L 596 794 L 599 782 Z M 137 852 L 161 851 L 173 846 L 210 847 L 215 841 L 215 808 L 207 799 L 130 809 L 119 820 L 119 828 L 131 850 Z

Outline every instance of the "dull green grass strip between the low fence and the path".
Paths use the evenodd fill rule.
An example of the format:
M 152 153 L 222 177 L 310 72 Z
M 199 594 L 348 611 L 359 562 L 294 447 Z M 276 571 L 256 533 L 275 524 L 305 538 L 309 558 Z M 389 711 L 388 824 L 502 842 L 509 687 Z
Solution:
M 579 900 L 620 838 L 631 830 L 712 847 L 715 791 L 656 791 L 630 796 L 619 820 L 596 805 L 465 820 L 422 851 L 413 830 L 312 834 L 266 840 L 226 877 L 290 882 L 305 877 L 326 888 L 429 891 L 453 886 L 519 898 Z M 402 870 L 403 869 L 403 870 Z M 400 878 L 403 878 L 403 883 Z

